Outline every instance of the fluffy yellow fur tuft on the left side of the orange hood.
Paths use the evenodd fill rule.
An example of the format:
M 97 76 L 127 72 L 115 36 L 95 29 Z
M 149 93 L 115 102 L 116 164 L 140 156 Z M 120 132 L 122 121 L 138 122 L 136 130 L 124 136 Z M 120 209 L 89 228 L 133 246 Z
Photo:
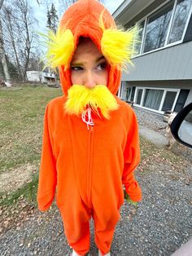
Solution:
M 41 35 L 46 38 L 46 66 L 56 68 L 61 65 L 67 66 L 74 51 L 74 37 L 70 29 L 58 29 L 56 33 L 51 30 L 48 34 Z

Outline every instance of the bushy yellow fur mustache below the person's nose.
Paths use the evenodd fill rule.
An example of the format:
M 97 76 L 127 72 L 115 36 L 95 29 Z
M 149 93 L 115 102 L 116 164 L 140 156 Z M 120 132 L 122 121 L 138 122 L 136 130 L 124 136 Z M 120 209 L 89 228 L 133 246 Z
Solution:
M 116 98 L 107 89 L 107 86 L 95 86 L 89 89 L 85 86 L 73 85 L 68 90 L 68 100 L 65 110 L 69 114 L 80 116 L 89 105 L 94 113 L 98 114 L 98 108 L 103 117 L 109 119 L 109 113 L 118 108 Z

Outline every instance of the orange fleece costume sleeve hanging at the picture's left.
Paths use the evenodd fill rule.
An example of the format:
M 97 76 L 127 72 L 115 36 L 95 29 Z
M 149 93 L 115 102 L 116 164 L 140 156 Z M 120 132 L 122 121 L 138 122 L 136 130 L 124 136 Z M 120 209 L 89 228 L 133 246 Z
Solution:
M 49 111 L 46 107 L 44 117 L 44 130 L 41 150 L 41 166 L 39 170 L 39 183 L 37 192 L 37 202 L 39 210 L 45 211 L 50 208 L 55 197 L 57 183 L 56 161 L 51 146 L 51 130 L 49 126 Z

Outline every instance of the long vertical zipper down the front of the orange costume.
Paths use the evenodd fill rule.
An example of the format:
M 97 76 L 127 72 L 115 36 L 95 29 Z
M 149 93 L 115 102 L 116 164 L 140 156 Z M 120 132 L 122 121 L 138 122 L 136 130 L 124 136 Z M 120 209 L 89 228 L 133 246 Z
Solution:
M 87 185 L 87 197 L 89 208 L 91 205 L 91 179 L 92 179 L 92 163 L 93 163 L 93 139 L 94 139 L 94 126 L 89 126 L 89 165 L 88 165 L 88 185 Z

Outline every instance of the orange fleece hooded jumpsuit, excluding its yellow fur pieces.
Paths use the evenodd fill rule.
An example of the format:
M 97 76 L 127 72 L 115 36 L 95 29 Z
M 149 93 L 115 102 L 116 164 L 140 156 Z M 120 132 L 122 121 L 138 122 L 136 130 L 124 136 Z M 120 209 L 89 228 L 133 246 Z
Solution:
M 74 45 L 72 54 L 66 57 L 68 61 L 59 65 L 64 95 L 51 100 L 46 107 L 37 194 L 39 209 L 44 211 L 49 209 L 56 190 L 68 244 L 81 255 L 89 251 L 91 216 L 96 245 L 103 254 L 109 252 L 120 218 L 120 206 L 124 202 L 122 184 L 131 200 L 142 198 L 133 176 L 140 161 L 137 119 L 133 109 L 116 97 L 119 108 L 110 113 L 110 119 L 93 114 L 94 126 L 89 129 L 81 117 L 69 115 L 64 109 L 68 89 L 72 86 L 68 64 L 78 38 L 91 38 L 104 52 L 101 15 L 105 29 L 115 26 L 111 15 L 103 8 L 95 0 L 80 0 L 65 12 L 60 22 L 60 28 L 70 29 Z M 107 54 L 103 55 L 107 58 Z M 111 64 L 108 72 L 107 87 L 116 95 L 120 68 Z

